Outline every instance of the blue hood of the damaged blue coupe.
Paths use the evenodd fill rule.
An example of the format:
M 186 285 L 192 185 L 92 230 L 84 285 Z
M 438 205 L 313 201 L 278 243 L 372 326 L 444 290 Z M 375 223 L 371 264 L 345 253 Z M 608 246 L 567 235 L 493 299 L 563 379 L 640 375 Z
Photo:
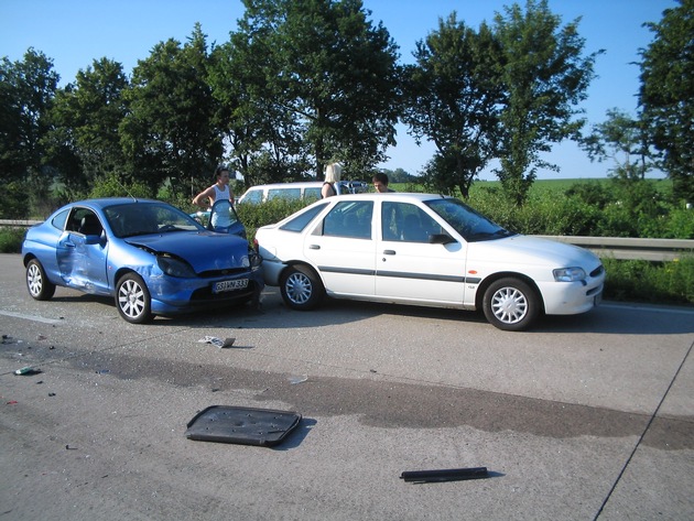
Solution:
M 248 267 L 248 241 L 235 235 L 213 231 L 175 231 L 131 237 L 126 242 L 153 254 L 170 253 L 185 259 L 200 273 Z

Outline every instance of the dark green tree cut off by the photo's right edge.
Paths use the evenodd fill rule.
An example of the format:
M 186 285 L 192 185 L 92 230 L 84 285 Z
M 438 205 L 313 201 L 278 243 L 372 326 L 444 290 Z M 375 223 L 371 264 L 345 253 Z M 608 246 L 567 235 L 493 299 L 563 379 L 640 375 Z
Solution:
M 694 0 L 679 2 L 646 24 L 654 39 L 641 50 L 639 101 L 675 196 L 694 202 Z

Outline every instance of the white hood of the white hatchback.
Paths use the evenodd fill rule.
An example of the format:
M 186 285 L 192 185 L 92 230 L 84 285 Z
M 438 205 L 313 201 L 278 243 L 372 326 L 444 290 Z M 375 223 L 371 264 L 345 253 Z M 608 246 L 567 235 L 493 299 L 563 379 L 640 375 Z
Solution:
M 508 251 L 508 256 L 505 252 Z M 586 249 L 540 237 L 516 235 L 505 239 L 471 242 L 469 246 L 469 260 L 494 260 L 503 257 L 512 259 L 514 263 L 547 264 L 556 268 L 584 267 L 596 268 L 600 259 Z

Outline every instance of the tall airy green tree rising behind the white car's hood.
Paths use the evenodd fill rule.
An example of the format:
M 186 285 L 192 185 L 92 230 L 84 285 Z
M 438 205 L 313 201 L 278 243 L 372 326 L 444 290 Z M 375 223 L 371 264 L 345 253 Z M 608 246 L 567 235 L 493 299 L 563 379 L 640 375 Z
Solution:
M 585 119 L 574 119 L 593 79 L 595 58 L 583 55 L 581 19 L 561 26 L 546 0 L 517 3 L 495 17 L 503 52 L 501 80 L 508 98 L 501 111 L 503 139 L 497 175 L 503 191 L 522 205 L 540 167 L 557 170 L 541 158 L 553 143 L 578 139 Z

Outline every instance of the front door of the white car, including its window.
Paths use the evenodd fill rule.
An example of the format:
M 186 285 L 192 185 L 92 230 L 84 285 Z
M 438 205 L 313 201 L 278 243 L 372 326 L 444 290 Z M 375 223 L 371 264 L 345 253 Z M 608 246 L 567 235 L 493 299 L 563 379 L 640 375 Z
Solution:
M 466 245 L 430 243 L 446 232 L 437 216 L 410 203 L 382 202 L 376 258 L 376 296 L 462 305 Z

